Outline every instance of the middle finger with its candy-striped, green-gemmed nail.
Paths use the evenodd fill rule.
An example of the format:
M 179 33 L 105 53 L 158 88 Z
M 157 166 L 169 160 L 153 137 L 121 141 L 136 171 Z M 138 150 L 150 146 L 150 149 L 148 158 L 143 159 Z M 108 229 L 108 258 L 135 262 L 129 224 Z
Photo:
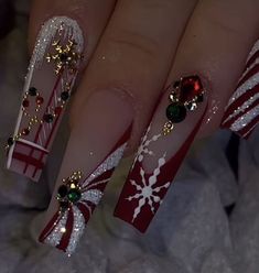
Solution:
M 63 177 L 82 171 L 78 197 L 83 193 L 79 201 L 67 204 L 69 210 L 58 212 L 61 201 L 69 198 L 65 188 L 71 190 L 67 182 L 60 187 L 65 194 L 60 206 L 54 194 L 41 241 L 74 251 L 74 241 L 78 242 L 129 139 L 136 142 L 150 117 L 193 4 L 190 0 L 118 2 L 74 102 L 72 135 L 57 179 L 60 186 Z M 89 195 L 93 192 L 95 196 Z M 76 237 L 72 218 L 80 225 Z

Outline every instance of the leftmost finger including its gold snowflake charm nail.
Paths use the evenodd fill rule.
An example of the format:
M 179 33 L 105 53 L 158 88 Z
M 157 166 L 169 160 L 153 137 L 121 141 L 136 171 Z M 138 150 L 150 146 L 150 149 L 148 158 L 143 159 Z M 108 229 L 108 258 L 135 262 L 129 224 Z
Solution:
M 35 47 L 14 133 L 7 144 L 8 168 L 39 181 L 75 80 L 97 44 L 112 3 L 34 2 L 30 41 Z M 85 15 L 88 12 L 91 15 Z

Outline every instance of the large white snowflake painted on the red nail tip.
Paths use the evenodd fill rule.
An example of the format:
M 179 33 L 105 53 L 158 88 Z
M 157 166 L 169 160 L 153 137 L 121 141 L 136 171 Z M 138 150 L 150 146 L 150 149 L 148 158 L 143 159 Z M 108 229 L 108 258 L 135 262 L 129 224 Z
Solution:
M 141 176 L 141 184 L 138 184 L 136 181 L 131 179 L 130 183 L 132 186 L 136 187 L 137 193 L 132 196 L 129 196 L 127 200 L 131 201 L 133 199 L 138 199 L 138 206 L 134 209 L 132 222 L 136 220 L 136 218 L 139 216 L 141 212 L 142 207 L 148 204 L 150 206 L 151 211 L 154 214 L 154 205 L 159 204 L 161 205 L 162 199 L 159 196 L 159 193 L 163 188 L 169 188 L 170 182 L 165 183 L 162 186 L 154 186 L 155 183 L 158 182 L 158 176 L 160 175 L 160 170 L 161 167 L 165 164 L 165 155 L 159 159 L 158 166 L 154 168 L 153 174 L 145 179 L 144 177 L 144 170 L 140 167 L 140 176 Z

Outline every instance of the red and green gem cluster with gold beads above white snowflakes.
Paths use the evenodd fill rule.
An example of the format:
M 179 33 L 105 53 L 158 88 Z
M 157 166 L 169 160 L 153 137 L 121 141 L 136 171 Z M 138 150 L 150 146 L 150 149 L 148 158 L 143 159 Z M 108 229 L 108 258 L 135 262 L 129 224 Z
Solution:
M 198 76 L 183 77 L 169 87 L 170 105 L 165 110 L 168 121 L 163 127 L 163 134 L 169 134 L 175 123 L 182 122 L 187 111 L 197 109 L 204 99 L 204 88 Z

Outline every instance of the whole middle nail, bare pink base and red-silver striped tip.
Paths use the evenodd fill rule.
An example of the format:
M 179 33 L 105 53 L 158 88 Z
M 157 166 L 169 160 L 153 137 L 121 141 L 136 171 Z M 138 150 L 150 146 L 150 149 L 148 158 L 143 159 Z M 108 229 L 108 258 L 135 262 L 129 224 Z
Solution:
M 71 255 L 99 204 L 131 133 L 131 105 L 117 92 L 98 91 L 83 114 L 84 125 L 72 132 L 62 164 L 63 182 L 56 189 L 50 221 L 39 240 Z M 104 116 L 105 114 L 105 116 Z

